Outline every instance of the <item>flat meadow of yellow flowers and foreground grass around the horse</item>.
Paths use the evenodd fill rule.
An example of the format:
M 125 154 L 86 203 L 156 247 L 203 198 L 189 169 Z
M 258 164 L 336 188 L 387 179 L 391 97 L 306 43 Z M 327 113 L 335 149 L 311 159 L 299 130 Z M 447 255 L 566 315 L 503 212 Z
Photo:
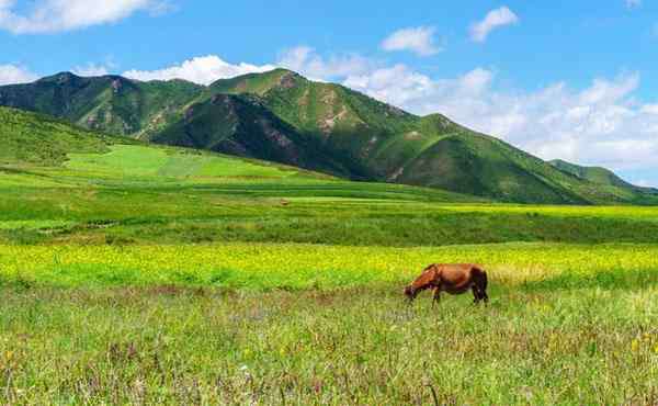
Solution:
M 1 247 L 21 271 L 0 287 L 0 383 L 19 404 L 653 404 L 657 253 Z M 405 303 L 410 268 L 470 259 L 488 307 Z

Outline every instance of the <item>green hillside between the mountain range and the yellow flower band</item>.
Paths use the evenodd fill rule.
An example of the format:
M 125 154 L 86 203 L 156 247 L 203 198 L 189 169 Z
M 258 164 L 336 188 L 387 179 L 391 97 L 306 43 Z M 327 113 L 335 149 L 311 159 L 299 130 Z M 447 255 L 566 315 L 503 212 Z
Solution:
M 0 114 L 0 241 L 434 246 L 658 238 L 651 208 L 454 205 L 483 201 L 149 146 L 11 109 Z

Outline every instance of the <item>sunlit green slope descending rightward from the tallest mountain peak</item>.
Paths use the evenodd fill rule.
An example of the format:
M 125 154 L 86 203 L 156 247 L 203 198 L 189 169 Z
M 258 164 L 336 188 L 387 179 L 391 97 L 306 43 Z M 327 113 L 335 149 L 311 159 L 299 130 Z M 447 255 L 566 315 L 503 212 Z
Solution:
M 219 80 L 209 89 L 260 95 L 296 131 L 318 140 L 332 156 L 360 162 L 362 174 L 381 181 L 523 203 L 632 202 L 638 194 L 625 184 L 598 188 L 440 114 L 419 117 L 283 69 Z

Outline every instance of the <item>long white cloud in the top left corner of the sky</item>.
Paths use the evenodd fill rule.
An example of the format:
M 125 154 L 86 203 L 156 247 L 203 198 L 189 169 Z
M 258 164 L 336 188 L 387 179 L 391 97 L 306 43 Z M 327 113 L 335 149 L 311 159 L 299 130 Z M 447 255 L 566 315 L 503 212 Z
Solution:
M 0 29 L 14 34 L 54 33 L 113 23 L 137 11 L 161 13 L 163 0 L 36 0 L 29 12 L 16 12 L 16 0 L 0 0 Z

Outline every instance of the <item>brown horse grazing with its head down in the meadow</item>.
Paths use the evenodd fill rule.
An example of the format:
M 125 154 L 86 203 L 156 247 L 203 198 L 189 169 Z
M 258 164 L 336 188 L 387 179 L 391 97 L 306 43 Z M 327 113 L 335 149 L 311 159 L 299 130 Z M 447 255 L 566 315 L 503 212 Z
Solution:
M 426 268 L 420 277 L 410 285 L 405 287 L 405 295 L 409 297 L 411 303 L 416 296 L 426 290 L 434 291 L 434 301 L 441 301 L 441 292 L 447 292 L 453 295 L 473 291 L 475 300 L 473 303 L 478 304 L 479 301 L 489 302 L 487 295 L 487 272 L 480 267 L 473 263 L 434 263 Z

